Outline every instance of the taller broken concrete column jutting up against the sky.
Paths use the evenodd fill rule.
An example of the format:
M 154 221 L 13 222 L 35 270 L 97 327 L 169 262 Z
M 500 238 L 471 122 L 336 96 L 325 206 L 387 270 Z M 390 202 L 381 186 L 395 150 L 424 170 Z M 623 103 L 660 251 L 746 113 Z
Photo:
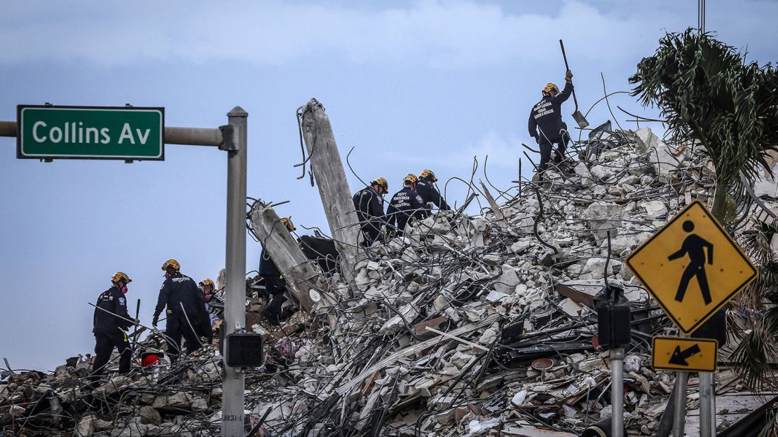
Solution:
M 349 181 L 341 161 L 330 118 L 324 114 L 324 107 L 311 99 L 303 109 L 303 138 L 310 156 L 310 168 L 316 177 L 324 214 L 330 225 L 330 232 L 341 256 L 341 270 L 350 284 L 357 261 L 357 239 L 359 220 L 354 211 Z

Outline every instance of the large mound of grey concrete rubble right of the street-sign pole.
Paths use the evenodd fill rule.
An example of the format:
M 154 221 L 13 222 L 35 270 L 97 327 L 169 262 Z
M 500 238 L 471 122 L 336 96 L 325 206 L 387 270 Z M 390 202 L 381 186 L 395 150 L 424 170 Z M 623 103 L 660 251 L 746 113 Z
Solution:
M 593 143 L 587 162 L 523 184 L 499 212 L 440 212 L 371 246 L 356 287 L 335 278 L 314 319 L 284 338 L 289 364 L 253 417 L 273 435 L 579 435 L 611 411 L 592 309 L 607 275 L 633 309 L 626 426 L 655 435 L 673 377 L 647 352 L 675 327 L 622 260 L 705 201 L 713 173 L 649 129 Z

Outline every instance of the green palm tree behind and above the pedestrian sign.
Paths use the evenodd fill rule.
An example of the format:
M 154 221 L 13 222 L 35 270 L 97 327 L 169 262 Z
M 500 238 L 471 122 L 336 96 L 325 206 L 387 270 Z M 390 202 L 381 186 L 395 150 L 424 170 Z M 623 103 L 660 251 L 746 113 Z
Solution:
M 710 33 L 668 33 L 654 56 L 643 58 L 629 82 L 632 95 L 656 106 L 678 142 L 696 142 L 716 168 L 713 215 L 724 222 L 727 191 L 740 173 L 753 181 L 770 171 L 767 152 L 778 145 L 778 75 Z

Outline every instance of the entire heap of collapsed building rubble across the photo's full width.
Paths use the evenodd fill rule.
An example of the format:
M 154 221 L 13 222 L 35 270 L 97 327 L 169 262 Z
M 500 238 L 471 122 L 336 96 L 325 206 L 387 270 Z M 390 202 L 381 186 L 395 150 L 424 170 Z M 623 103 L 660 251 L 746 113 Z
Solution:
M 586 435 L 611 413 L 608 354 L 598 349 L 593 309 L 607 280 L 625 289 L 632 309 L 626 428 L 656 435 L 674 378 L 650 368 L 650 339 L 676 330 L 622 261 L 684 205 L 708 200 L 713 172 L 692 146 L 668 145 L 650 129 L 598 129 L 575 146 L 580 161 L 548 170 L 543 183 L 520 182 L 520 195 L 499 191 L 478 215 L 439 212 L 403 237 L 360 249 L 349 274 L 300 267 L 294 294 L 314 291 L 303 302 L 310 312 L 282 327 L 261 323 L 261 288 L 249 281 L 247 326 L 265 335 L 268 355 L 247 371 L 247 429 L 322 437 Z M 471 189 L 492 197 L 485 186 Z M 772 214 L 775 191 L 759 192 L 762 199 L 739 217 L 752 215 L 749 208 Z M 252 219 L 266 238 L 260 216 L 277 216 L 261 207 Z M 153 335 L 142 344 L 164 347 Z M 72 358 L 49 375 L 9 368 L 0 426 L 8 435 L 215 435 L 218 348 L 190 358 L 114 376 L 93 390 L 86 388 L 89 358 Z M 717 374 L 717 387 L 743 389 L 731 371 Z M 690 416 L 698 401 L 690 379 Z M 720 419 L 720 428 L 734 419 Z

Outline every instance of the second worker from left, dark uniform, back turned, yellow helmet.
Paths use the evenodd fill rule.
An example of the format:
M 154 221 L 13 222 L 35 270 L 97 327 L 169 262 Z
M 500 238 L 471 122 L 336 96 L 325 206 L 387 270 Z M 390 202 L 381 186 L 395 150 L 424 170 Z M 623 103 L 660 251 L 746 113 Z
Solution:
M 166 260 L 162 264 L 165 281 L 159 288 L 152 325 L 159 323 L 159 314 L 166 309 L 165 336 L 170 361 L 176 362 L 181 348 L 181 337 L 186 341 L 186 353 L 202 347 L 199 333 L 202 333 L 202 321 L 208 317 L 205 313 L 205 296 L 198 290 L 195 280 L 181 274 L 177 260 Z

